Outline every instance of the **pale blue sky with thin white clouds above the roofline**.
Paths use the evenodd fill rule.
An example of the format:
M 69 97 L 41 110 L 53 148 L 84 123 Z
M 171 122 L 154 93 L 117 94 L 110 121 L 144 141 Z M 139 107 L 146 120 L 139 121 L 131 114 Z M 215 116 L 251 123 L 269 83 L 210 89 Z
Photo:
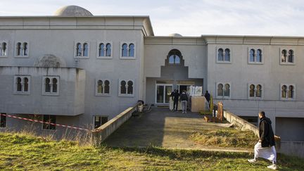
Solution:
M 93 15 L 149 15 L 154 33 L 304 37 L 302 0 L 0 0 L 0 15 L 53 15 L 77 5 Z

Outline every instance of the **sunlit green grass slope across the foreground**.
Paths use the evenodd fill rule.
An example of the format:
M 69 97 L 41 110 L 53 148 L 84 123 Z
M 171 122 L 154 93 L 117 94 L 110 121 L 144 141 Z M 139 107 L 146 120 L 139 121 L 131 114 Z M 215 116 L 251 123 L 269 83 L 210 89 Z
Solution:
M 0 133 L 0 170 L 267 170 L 250 153 L 79 146 L 25 134 Z M 304 170 L 304 160 L 278 155 L 280 170 Z

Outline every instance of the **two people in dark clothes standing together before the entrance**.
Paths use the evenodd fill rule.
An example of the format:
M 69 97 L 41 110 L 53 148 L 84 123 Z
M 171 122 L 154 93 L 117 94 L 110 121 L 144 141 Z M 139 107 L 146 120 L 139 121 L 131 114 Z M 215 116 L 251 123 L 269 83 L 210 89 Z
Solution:
M 186 90 L 183 90 L 181 94 L 179 91 L 175 89 L 171 93 L 171 98 L 173 100 L 173 110 L 177 111 L 177 106 L 179 101 L 182 103 L 182 113 L 186 113 L 186 106 L 188 102 L 188 95 L 186 94 Z

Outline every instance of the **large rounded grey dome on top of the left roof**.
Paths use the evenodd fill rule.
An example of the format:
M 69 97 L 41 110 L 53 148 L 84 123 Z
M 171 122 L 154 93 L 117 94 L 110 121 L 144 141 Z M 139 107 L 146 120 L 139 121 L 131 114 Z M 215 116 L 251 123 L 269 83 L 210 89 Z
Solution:
M 59 8 L 54 15 L 57 16 L 93 16 L 90 11 L 80 6 L 63 6 Z

